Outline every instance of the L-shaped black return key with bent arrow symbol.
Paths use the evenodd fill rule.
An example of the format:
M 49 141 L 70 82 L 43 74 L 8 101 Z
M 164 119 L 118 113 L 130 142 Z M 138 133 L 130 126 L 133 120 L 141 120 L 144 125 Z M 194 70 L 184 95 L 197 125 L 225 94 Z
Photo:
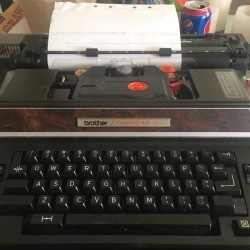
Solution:
M 227 168 L 228 180 L 215 181 L 216 192 L 218 194 L 232 195 L 239 197 L 241 195 L 241 188 L 237 177 L 235 168 Z

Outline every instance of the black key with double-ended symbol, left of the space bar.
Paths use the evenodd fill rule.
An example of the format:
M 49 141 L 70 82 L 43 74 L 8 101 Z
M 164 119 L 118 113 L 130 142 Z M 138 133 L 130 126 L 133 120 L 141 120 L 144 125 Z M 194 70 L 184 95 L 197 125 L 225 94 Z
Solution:
M 30 219 L 30 232 L 33 234 L 59 233 L 63 228 L 62 214 L 33 214 Z

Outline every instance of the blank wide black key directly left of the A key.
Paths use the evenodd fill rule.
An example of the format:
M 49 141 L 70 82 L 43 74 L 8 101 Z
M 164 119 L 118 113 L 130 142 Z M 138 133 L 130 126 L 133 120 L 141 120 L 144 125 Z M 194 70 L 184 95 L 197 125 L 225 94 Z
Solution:
M 7 180 L 4 194 L 28 194 L 28 180 Z

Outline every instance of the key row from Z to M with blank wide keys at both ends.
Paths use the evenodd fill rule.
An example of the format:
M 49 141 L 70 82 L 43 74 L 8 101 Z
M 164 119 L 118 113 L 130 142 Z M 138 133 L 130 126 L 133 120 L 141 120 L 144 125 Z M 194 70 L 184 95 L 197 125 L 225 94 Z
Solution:
M 246 215 L 244 199 L 232 196 L 197 195 L 4 195 L 0 202 L 4 214 L 42 213 L 213 213 L 218 216 Z

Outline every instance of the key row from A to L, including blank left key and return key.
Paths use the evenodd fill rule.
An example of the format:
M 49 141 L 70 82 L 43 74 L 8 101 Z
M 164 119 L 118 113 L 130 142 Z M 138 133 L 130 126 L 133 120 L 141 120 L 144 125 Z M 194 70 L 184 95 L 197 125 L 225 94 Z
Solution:
M 195 179 L 85 179 L 79 181 L 77 179 L 52 179 L 46 181 L 44 179 L 29 180 L 7 180 L 4 189 L 5 194 L 231 194 L 239 196 L 241 193 L 238 180 L 234 180 L 235 186 L 231 187 L 229 181 L 213 181 L 211 179 L 203 179 L 197 181 Z M 236 183 L 237 182 L 237 183 Z M 227 185 L 229 183 L 229 185 Z M 231 186 L 230 186 L 231 185 Z M 229 186 L 229 187 L 227 187 Z

